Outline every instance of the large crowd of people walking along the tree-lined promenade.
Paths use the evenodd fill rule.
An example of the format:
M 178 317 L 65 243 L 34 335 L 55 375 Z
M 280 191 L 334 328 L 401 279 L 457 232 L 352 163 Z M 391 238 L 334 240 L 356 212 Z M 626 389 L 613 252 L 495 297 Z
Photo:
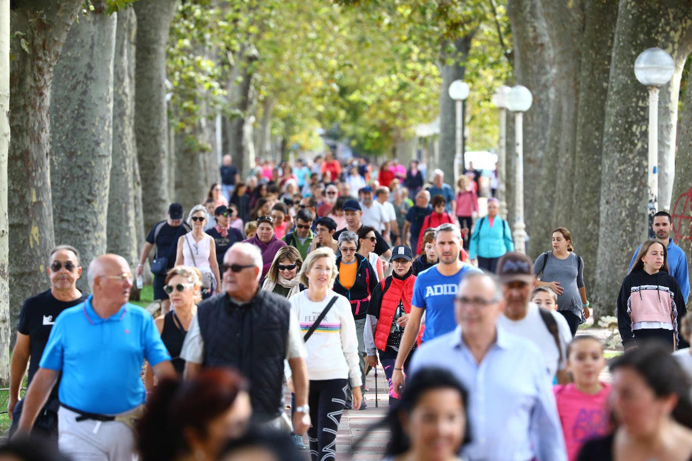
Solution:
M 478 216 L 476 171 L 455 192 L 439 170 L 426 187 L 417 162 L 374 170 L 327 153 L 259 160 L 241 182 L 226 156 L 205 203 L 152 227 L 134 274 L 91 261 L 88 297 L 78 250 L 56 247 L 51 287 L 21 310 L 2 450 L 31 434 L 74 460 L 334 460 L 381 365 L 387 460 L 692 458 L 689 275 L 669 214 L 613 306 L 610 384 L 603 344 L 577 334 L 590 301 L 568 229 L 532 261 L 495 198 Z M 156 319 L 128 302 L 154 247 Z

